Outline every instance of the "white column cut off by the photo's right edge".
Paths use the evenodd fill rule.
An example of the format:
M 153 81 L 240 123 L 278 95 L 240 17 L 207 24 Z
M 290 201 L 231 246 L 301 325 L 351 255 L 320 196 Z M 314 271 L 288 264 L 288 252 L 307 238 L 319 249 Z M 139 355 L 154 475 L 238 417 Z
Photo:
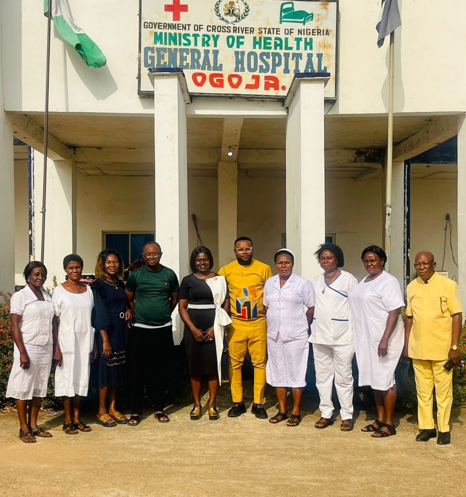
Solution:
M 466 114 L 458 117 L 458 287 L 466 306 Z M 465 317 L 465 316 L 463 316 Z

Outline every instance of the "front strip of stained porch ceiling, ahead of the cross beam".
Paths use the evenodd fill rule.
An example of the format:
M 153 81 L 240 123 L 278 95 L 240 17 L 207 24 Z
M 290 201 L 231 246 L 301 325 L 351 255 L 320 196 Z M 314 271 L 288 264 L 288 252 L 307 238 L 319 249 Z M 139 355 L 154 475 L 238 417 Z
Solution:
M 43 125 L 42 114 L 28 114 Z M 430 116 L 395 116 L 393 142 L 425 127 Z M 50 114 L 50 133 L 71 147 L 148 148 L 153 144 L 154 122 L 148 116 Z M 192 147 L 220 147 L 223 119 L 188 118 L 188 143 Z M 244 119 L 239 148 L 284 149 L 285 119 Z M 326 149 L 384 148 L 386 117 L 325 117 Z

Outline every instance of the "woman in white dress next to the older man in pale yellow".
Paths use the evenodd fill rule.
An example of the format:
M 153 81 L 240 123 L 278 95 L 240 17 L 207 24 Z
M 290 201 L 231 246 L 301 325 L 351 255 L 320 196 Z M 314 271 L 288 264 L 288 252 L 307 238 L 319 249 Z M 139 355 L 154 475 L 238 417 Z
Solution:
M 363 250 L 361 259 L 369 276 L 350 296 L 351 320 L 359 369 L 359 386 L 374 392 L 377 419 L 361 428 L 376 438 L 395 435 L 395 368 L 403 350 L 400 316 L 404 301 L 398 280 L 384 271 L 387 254 L 377 245 Z

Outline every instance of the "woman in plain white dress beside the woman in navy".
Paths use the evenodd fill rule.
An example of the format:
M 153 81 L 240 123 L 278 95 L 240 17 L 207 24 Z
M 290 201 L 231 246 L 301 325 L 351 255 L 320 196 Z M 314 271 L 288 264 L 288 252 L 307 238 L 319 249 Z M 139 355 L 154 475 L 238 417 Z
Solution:
M 78 430 L 92 430 L 79 420 L 79 407 L 81 397 L 87 395 L 89 387 L 90 355 L 94 345 L 90 315 L 94 298 L 90 287 L 80 282 L 83 263 L 79 255 L 67 255 L 63 259 L 63 268 L 67 280 L 58 285 L 52 295 L 55 314 L 60 318 L 54 353 L 58 363 L 55 370 L 55 396 L 63 397 L 63 431 L 68 435 L 76 435 Z

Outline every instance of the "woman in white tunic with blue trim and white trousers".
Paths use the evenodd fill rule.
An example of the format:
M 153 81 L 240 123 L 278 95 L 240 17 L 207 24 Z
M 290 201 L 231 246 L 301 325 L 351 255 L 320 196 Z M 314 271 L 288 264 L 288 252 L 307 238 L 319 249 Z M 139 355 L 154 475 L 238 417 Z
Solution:
M 315 292 L 314 321 L 311 336 L 315 367 L 315 384 L 320 397 L 318 429 L 333 424 L 332 386 L 340 403 L 341 431 L 351 431 L 353 422 L 353 330 L 349 295 L 358 280 L 341 270 L 345 260 L 338 245 L 320 245 L 314 254 L 324 270 L 312 281 Z

